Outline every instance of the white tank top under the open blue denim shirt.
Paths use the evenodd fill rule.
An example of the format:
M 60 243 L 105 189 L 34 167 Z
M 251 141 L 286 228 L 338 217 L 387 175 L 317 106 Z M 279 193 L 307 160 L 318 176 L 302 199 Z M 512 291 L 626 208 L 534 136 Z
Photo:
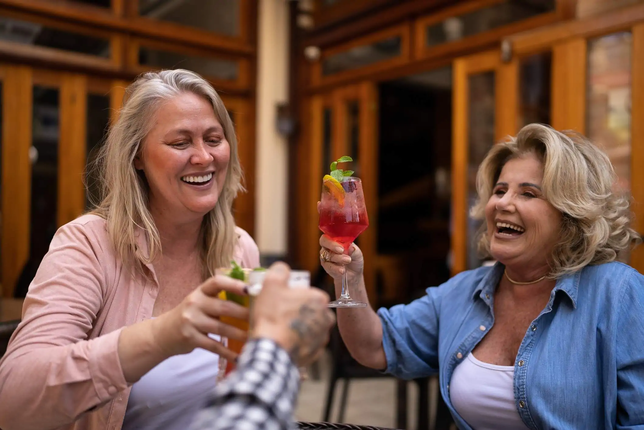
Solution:
M 451 375 L 451 403 L 475 430 L 526 430 L 516 409 L 514 378 L 514 366 L 484 363 L 469 353 Z

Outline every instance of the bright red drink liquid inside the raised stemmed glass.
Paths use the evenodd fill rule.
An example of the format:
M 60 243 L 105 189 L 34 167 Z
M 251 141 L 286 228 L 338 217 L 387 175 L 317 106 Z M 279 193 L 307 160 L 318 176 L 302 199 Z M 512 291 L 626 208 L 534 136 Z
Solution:
M 341 209 L 341 208 L 338 208 Z M 320 210 L 319 229 L 331 239 L 345 247 L 345 253 L 355 238 L 369 227 L 366 210 L 359 212 L 345 210 Z M 356 216 L 357 215 L 357 216 Z

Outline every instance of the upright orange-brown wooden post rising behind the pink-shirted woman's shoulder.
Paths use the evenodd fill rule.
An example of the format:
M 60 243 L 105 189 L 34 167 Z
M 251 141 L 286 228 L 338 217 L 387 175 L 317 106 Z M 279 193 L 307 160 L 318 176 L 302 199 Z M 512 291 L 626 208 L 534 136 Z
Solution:
M 63 73 L 60 90 L 60 140 L 58 153 L 59 227 L 85 210 L 82 176 L 87 146 L 87 78 Z

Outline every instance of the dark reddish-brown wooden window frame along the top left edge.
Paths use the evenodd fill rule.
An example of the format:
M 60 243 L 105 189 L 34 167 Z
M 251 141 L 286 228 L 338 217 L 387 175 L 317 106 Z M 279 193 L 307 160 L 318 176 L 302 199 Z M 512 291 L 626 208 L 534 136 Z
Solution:
M 153 37 L 168 42 L 184 42 L 224 53 L 253 55 L 255 49 L 254 15 L 257 0 L 240 0 L 240 37 L 227 37 L 167 21 L 157 21 L 133 15 L 138 11 L 137 0 L 113 0 L 112 10 L 73 1 L 0 0 L 14 10 L 30 14 L 58 17 L 66 21 L 93 25 L 107 31 L 128 32 L 140 37 Z M 137 3 L 137 5 L 135 5 Z M 133 7 L 137 6 L 137 7 Z

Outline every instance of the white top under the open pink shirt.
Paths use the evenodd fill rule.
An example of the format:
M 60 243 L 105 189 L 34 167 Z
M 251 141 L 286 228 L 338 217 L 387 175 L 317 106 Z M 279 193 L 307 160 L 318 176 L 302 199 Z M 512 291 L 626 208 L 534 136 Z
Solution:
M 133 384 L 122 430 L 189 428 L 213 391 L 218 363 L 219 355 L 196 348 L 157 364 Z

